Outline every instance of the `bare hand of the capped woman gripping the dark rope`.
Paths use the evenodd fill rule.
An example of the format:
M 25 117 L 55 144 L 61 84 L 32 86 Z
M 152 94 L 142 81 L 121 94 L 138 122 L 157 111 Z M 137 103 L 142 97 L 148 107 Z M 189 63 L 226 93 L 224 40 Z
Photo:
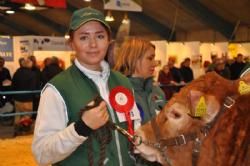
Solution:
M 102 101 L 99 106 L 94 107 L 88 111 L 84 111 L 81 119 L 92 130 L 96 130 L 102 127 L 109 120 L 106 103 Z

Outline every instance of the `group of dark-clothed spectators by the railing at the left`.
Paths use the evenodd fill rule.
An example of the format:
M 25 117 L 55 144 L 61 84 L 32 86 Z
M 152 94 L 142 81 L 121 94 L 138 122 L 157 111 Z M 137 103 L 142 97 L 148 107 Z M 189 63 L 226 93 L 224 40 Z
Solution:
M 30 125 L 24 128 L 22 126 L 22 121 L 35 120 L 35 112 L 38 109 L 38 104 L 40 100 L 39 91 L 43 86 L 56 74 L 63 71 L 59 66 L 58 58 L 51 57 L 47 58 L 50 60 L 43 69 L 40 69 L 36 62 L 35 56 L 21 57 L 19 59 L 19 68 L 14 72 L 13 77 L 11 77 L 9 70 L 4 67 L 5 60 L 0 58 L 0 78 L 1 78 L 1 91 L 23 91 L 23 93 L 16 93 L 13 95 L 1 96 L 1 106 L 4 106 L 6 102 L 13 104 L 15 107 L 15 112 L 30 112 L 30 114 L 25 116 L 15 116 L 14 125 L 16 128 L 16 134 L 22 132 L 22 130 L 31 129 Z M 38 91 L 33 93 L 32 91 Z

